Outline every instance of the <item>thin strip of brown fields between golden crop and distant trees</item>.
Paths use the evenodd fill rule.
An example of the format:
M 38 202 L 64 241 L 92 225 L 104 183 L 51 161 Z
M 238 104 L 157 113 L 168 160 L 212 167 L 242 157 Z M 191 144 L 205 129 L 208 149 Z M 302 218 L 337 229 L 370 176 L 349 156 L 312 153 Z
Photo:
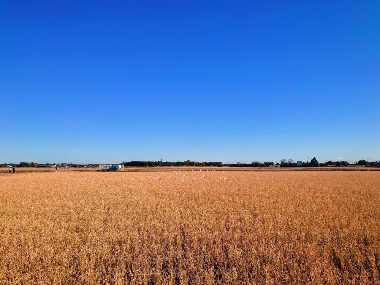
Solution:
M 328 167 L 229 167 L 229 166 L 160 166 L 160 167 L 125 167 L 123 171 L 380 171 L 380 167 L 366 167 L 366 166 L 328 166 Z M 8 173 L 9 167 L 0 167 L 0 173 Z M 59 172 L 68 171 L 68 169 L 59 169 Z M 72 167 L 70 171 L 95 171 L 93 167 Z M 30 172 L 55 172 L 52 167 L 17 167 L 16 173 L 30 173 Z

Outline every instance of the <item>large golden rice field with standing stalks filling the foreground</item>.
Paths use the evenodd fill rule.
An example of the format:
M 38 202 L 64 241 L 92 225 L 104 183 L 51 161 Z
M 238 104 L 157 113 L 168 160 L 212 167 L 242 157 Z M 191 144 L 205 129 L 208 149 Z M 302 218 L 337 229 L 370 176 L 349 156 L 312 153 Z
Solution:
M 0 175 L 0 284 L 380 284 L 378 171 L 158 175 Z

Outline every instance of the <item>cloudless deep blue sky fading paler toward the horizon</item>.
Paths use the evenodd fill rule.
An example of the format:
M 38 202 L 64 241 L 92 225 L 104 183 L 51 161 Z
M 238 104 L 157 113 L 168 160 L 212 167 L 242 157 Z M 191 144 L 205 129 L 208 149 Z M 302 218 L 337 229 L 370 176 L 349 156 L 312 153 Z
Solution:
M 0 1 L 0 162 L 380 159 L 379 1 Z

